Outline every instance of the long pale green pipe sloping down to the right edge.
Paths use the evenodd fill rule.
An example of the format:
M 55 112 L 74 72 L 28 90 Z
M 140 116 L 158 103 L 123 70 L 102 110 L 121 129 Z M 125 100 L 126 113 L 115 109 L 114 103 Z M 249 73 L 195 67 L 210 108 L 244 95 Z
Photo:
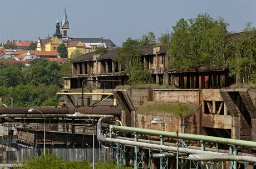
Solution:
M 122 131 L 122 132 L 129 132 L 143 135 L 150 135 L 150 136 L 164 136 L 170 138 L 177 138 L 176 132 L 169 132 L 169 131 L 159 131 L 159 130 L 151 130 L 151 129 L 140 129 L 136 127 L 127 127 L 127 126 L 116 126 L 111 125 L 115 130 Z M 213 136 L 204 136 L 204 135 L 194 135 L 194 134 L 178 134 L 179 139 L 185 140 L 196 140 L 204 142 L 214 142 L 219 144 L 226 144 L 226 145 L 237 145 L 237 146 L 244 146 L 244 147 L 256 147 L 256 142 L 254 141 L 245 141 L 245 140 L 235 140 L 235 139 L 227 139 L 223 137 L 213 137 Z

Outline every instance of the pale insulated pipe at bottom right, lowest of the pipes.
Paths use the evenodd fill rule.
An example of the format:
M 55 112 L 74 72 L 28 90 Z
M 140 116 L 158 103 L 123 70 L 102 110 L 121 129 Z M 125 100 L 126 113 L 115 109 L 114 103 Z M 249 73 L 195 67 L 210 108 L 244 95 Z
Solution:
M 191 154 L 188 160 L 193 161 L 243 161 L 256 163 L 256 157 L 252 156 L 219 156 L 219 155 L 200 155 Z

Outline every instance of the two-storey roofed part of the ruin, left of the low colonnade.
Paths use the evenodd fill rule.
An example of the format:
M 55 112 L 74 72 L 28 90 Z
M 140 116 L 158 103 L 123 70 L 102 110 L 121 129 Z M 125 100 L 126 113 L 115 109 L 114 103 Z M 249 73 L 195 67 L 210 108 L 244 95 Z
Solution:
M 144 45 L 136 48 L 141 55 L 145 68 L 152 74 L 153 83 L 168 84 L 167 57 L 163 48 L 157 45 Z M 122 83 L 100 83 L 101 88 L 112 89 L 117 84 L 125 84 L 127 74 L 119 63 L 114 62 L 117 49 L 108 50 L 107 53 L 97 55 L 94 52 L 87 53 L 73 61 L 73 76 L 65 77 L 65 89 L 81 88 L 84 79 L 94 80 L 121 80 Z

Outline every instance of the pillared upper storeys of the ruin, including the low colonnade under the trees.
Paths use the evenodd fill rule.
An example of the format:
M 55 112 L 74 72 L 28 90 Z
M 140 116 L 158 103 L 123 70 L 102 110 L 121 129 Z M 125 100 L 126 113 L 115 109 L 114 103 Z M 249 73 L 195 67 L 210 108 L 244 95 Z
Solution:
M 227 87 L 232 78 L 228 77 L 227 66 L 201 66 L 193 71 L 169 71 L 168 56 L 160 45 L 144 45 L 136 48 L 144 68 L 150 70 L 151 83 L 173 85 L 186 89 L 220 89 Z M 116 49 L 99 55 L 95 52 L 83 54 L 73 61 L 73 76 L 64 77 L 65 89 L 81 88 L 82 81 L 99 80 L 101 89 L 114 89 L 118 84 L 125 84 L 127 73 L 121 65 L 114 62 Z M 121 80 L 121 82 L 102 83 L 100 80 Z M 221 84 L 221 80 L 224 84 Z

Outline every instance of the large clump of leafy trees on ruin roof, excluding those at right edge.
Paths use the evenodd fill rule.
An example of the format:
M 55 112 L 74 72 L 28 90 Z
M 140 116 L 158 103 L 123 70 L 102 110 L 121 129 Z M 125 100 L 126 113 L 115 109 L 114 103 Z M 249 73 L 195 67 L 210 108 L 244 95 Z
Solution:
M 173 27 L 168 45 L 170 68 L 195 69 L 200 65 L 223 65 L 228 23 L 208 13 L 194 19 L 181 18 Z

